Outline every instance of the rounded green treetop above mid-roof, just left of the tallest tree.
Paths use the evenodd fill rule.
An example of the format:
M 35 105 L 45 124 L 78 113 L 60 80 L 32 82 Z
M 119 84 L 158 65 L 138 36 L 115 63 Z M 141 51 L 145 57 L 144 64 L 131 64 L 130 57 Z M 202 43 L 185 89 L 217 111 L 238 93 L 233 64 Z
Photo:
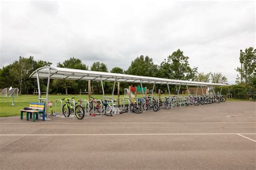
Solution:
M 154 64 L 153 59 L 149 56 L 140 55 L 131 62 L 131 66 L 126 70 L 126 74 L 140 75 L 140 76 L 156 76 L 157 65 Z

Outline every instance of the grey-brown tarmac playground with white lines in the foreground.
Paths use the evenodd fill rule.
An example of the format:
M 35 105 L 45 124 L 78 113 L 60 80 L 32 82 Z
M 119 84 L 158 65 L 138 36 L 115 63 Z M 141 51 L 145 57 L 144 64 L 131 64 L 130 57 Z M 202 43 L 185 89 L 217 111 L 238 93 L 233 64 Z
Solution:
M 256 103 L 0 118 L 0 169 L 256 169 Z

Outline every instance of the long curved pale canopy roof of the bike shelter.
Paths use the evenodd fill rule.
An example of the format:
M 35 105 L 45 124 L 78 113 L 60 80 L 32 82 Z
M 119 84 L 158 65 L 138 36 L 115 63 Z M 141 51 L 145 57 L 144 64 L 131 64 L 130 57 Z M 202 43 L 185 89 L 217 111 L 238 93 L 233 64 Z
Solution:
M 93 80 L 93 81 L 119 81 L 119 82 L 134 82 L 134 83 L 156 83 L 156 84 L 182 84 L 190 86 L 229 86 L 228 84 L 220 83 L 207 83 L 198 81 L 185 81 L 185 80 L 173 80 L 163 79 L 158 77 L 137 76 L 129 74 L 117 74 L 106 72 L 94 72 L 89 70 L 59 68 L 59 67 L 41 67 L 35 70 L 30 77 L 36 78 L 37 73 L 39 78 L 50 79 L 65 79 L 65 80 Z

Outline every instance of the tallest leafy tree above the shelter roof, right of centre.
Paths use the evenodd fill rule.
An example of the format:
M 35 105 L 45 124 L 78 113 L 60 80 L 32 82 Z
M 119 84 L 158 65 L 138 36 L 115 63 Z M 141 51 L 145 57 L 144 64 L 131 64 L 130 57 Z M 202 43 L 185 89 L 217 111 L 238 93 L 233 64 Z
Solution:
M 197 67 L 191 68 L 188 59 L 188 56 L 178 49 L 161 63 L 158 76 L 167 79 L 194 80 L 197 75 Z

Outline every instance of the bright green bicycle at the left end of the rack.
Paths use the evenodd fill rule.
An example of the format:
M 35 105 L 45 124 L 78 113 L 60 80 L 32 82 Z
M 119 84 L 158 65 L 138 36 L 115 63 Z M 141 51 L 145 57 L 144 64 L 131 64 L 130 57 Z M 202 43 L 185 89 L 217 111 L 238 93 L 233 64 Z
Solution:
M 84 118 L 84 108 L 81 105 L 76 105 L 77 103 L 75 103 L 75 105 L 74 105 L 73 102 L 70 101 L 73 98 L 75 98 L 75 97 L 62 99 L 63 101 L 65 101 L 65 104 L 62 107 L 63 115 L 65 117 L 69 117 L 70 114 L 75 111 L 76 117 L 78 119 L 83 119 Z M 74 108 L 75 108 L 75 110 L 74 110 Z

